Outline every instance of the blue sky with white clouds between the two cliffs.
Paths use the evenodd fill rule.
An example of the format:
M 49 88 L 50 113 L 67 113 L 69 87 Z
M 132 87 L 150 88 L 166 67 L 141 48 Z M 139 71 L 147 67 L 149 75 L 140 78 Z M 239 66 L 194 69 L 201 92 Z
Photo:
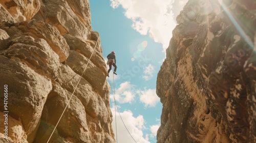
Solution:
M 175 28 L 175 18 L 186 1 L 111 0 L 90 1 L 92 27 L 99 32 L 103 56 L 116 52 L 114 76 L 118 110 L 136 142 L 156 142 L 162 104 L 156 95 L 156 79 L 165 49 Z M 175 6 L 175 8 L 173 8 Z M 110 73 L 113 87 L 113 73 Z M 113 130 L 118 142 L 135 142 L 115 113 L 110 95 Z M 116 118 L 115 118 L 116 115 Z

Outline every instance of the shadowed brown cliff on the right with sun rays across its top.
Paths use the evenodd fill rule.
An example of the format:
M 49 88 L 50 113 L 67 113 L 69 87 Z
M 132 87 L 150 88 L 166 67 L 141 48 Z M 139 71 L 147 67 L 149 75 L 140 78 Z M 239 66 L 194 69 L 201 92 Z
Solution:
M 189 0 L 157 79 L 157 142 L 256 142 L 254 1 Z

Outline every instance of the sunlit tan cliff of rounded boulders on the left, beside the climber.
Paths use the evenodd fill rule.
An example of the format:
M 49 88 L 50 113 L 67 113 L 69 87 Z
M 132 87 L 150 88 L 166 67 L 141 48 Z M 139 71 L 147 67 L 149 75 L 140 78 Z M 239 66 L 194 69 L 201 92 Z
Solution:
M 79 80 L 50 142 L 115 142 L 89 1 L 2 0 L 0 19 L 0 142 L 47 142 Z

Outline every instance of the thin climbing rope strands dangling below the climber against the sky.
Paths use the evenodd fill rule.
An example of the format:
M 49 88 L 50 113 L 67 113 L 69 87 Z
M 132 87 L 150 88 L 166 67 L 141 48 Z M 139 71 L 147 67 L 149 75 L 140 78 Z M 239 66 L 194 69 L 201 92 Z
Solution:
M 105 55 L 105 57 L 106 57 L 104 48 L 103 48 L 103 46 L 101 46 L 101 47 L 102 47 L 103 53 L 104 53 L 104 55 Z M 112 69 L 112 71 L 113 71 L 113 69 Z M 126 129 L 127 132 L 130 134 L 130 136 L 133 138 L 132 134 L 129 132 L 129 130 L 127 129 L 126 125 L 124 124 L 123 119 L 122 119 L 122 116 L 121 116 L 121 114 L 120 114 L 120 112 L 119 112 L 119 110 L 118 110 L 117 104 L 116 104 L 114 73 L 113 73 L 113 88 L 114 88 L 114 92 L 113 92 L 113 89 L 112 89 L 112 86 L 111 86 L 110 78 L 108 77 L 108 79 L 109 79 L 110 88 L 111 88 L 111 91 L 112 91 L 112 93 L 113 93 L 114 102 L 115 102 L 115 124 L 116 124 L 116 109 L 117 109 L 118 114 L 119 114 L 119 116 L 120 116 L 120 118 L 121 118 L 121 121 L 122 121 L 122 123 L 123 123 L 125 129 Z M 137 143 L 137 141 L 136 141 L 134 138 L 133 138 L 133 140 Z M 116 142 L 117 142 L 117 124 L 116 124 Z

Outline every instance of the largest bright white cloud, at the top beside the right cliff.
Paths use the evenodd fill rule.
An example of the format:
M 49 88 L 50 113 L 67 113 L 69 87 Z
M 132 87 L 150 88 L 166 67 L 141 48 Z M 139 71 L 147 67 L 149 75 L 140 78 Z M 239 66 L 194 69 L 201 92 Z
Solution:
M 142 35 L 148 34 L 155 42 L 169 45 L 176 26 L 172 4 L 174 0 L 111 0 L 111 6 L 122 6 L 124 15 L 133 21 L 132 27 Z

